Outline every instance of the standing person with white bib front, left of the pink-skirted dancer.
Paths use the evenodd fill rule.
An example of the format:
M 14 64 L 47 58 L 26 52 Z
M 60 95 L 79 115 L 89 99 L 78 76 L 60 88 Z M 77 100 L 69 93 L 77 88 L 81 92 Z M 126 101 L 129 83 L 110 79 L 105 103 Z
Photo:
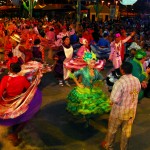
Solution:
M 68 36 L 63 37 L 62 41 L 63 43 L 54 57 L 57 60 L 54 72 L 56 73 L 60 86 L 63 86 L 63 80 L 67 86 L 70 86 L 67 79 L 71 71 L 64 66 L 64 63 L 72 59 L 73 47 L 70 45 L 70 38 Z

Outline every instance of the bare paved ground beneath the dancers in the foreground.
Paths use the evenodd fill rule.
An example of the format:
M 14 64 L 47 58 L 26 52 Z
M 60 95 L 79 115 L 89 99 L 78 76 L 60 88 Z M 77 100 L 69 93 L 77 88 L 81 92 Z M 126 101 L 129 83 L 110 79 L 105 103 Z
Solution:
M 107 119 L 92 120 L 91 126 L 85 128 L 82 120 L 73 118 L 65 110 L 66 96 L 74 84 L 72 87 L 59 87 L 50 83 L 50 77 L 50 74 L 46 74 L 42 80 L 42 107 L 21 133 L 24 139 L 22 144 L 13 147 L 5 139 L 7 129 L 0 127 L 0 150 L 102 150 L 100 141 L 107 131 Z M 138 105 L 129 150 L 150 150 L 149 106 L 150 99 L 147 98 Z M 115 150 L 119 149 L 118 142 L 119 135 Z

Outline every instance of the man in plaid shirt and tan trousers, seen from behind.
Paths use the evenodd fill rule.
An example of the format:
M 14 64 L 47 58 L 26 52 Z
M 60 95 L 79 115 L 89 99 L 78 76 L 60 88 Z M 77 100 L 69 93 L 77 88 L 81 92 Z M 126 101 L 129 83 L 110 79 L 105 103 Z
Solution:
M 122 76 L 115 82 L 111 92 L 112 110 L 106 139 L 102 142 L 102 147 L 107 150 L 114 149 L 114 140 L 119 127 L 121 127 L 122 131 L 120 149 L 127 149 L 136 114 L 138 94 L 141 89 L 140 81 L 131 74 L 132 68 L 133 66 L 129 62 L 124 62 L 121 65 L 120 71 Z

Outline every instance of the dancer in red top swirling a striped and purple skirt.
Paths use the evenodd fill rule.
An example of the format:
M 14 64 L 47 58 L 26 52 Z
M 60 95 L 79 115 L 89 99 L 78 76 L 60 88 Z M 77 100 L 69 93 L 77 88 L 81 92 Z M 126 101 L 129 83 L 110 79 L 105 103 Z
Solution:
M 20 76 L 19 63 L 10 65 L 10 74 L 2 78 L 0 83 L 0 125 L 10 127 L 7 138 L 14 146 L 21 143 L 19 133 L 40 109 L 42 94 L 37 89 L 40 75 L 28 82 L 25 76 Z

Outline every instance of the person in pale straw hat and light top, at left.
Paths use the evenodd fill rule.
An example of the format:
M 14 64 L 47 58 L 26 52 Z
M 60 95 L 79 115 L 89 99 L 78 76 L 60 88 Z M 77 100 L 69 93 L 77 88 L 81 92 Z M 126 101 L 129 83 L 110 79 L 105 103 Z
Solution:
M 21 42 L 20 36 L 18 34 L 14 34 L 10 37 L 13 43 L 13 49 L 12 49 L 13 56 L 17 56 L 20 63 L 24 63 L 25 55 L 19 50 L 20 42 Z

